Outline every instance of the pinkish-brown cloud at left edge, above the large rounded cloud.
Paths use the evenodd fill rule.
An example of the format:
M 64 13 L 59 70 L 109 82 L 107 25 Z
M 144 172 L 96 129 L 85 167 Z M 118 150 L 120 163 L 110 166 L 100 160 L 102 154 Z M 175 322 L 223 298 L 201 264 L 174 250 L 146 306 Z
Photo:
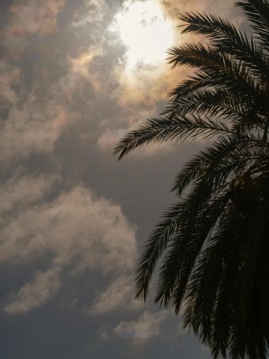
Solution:
M 71 61 L 71 60 L 70 60 Z M 21 79 L 21 68 L 0 61 L 0 163 L 10 166 L 32 153 L 52 153 L 63 130 L 81 114 L 66 103 L 66 93 L 83 73 L 82 62 L 70 65 L 70 72 L 56 79 L 46 94 L 40 96 L 40 85 L 32 84 L 27 92 Z M 81 68 L 79 69 L 79 66 Z

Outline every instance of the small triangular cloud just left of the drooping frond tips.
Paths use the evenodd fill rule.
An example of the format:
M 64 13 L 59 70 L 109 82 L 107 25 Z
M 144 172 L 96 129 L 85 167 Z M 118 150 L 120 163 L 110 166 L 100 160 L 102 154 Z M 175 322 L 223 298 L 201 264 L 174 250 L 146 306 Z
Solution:
M 120 310 L 141 309 L 141 303 L 134 299 L 134 276 L 121 274 L 107 287 L 105 291 L 97 293 L 88 314 L 104 314 Z

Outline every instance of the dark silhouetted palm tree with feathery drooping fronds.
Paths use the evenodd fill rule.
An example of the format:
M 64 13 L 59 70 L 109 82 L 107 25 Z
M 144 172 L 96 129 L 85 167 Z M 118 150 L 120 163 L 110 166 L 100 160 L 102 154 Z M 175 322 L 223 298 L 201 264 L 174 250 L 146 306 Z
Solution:
M 179 313 L 214 358 L 265 359 L 269 351 L 269 0 L 236 2 L 252 35 L 213 15 L 184 13 L 183 34 L 202 43 L 169 49 L 172 68 L 193 69 L 167 108 L 118 143 L 118 159 L 168 140 L 211 138 L 185 163 L 172 205 L 140 258 L 136 298 Z M 184 194 L 185 191 L 188 194 Z

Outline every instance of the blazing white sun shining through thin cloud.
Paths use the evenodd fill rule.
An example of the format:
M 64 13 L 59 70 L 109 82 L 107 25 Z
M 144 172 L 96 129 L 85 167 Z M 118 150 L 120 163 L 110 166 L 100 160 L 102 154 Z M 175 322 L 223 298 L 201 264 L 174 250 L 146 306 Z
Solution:
M 165 51 L 172 45 L 171 23 L 155 0 L 125 1 L 123 10 L 115 16 L 114 29 L 128 47 L 129 68 L 138 62 L 164 61 Z

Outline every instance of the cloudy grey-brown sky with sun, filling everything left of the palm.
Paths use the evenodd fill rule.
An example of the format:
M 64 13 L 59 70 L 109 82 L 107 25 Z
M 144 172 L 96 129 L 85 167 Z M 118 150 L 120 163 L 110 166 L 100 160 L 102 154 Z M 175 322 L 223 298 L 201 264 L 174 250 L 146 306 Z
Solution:
M 180 316 L 134 301 L 143 243 L 204 143 L 113 156 L 187 76 L 165 60 L 194 40 L 183 11 L 246 29 L 232 0 L 0 1 L 1 359 L 210 358 Z

